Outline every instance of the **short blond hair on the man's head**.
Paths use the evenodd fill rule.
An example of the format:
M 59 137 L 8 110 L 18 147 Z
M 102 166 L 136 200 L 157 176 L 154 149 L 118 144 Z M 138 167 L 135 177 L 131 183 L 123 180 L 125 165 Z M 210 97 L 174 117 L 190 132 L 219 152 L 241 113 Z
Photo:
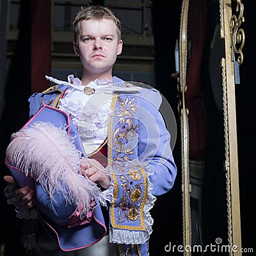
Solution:
M 116 33 L 118 36 L 118 40 L 121 39 L 121 22 L 115 16 L 115 14 L 106 6 L 92 5 L 92 6 L 81 6 L 81 10 L 77 12 L 76 18 L 73 22 L 74 27 L 74 41 L 77 42 L 77 33 L 79 29 L 79 23 L 82 20 L 102 20 L 108 19 L 113 20 L 116 24 Z

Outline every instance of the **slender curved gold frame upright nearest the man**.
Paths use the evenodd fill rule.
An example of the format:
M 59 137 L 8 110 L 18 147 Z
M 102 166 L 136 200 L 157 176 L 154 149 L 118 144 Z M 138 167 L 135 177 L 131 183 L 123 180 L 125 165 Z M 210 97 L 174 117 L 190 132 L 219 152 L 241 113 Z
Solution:
M 189 184 L 189 124 L 188 108 L 186 108 L 185 93 L 187 90 L 186 72 L 187 72 L 187 55 L 188 55 L 188 10 L 189 0 L 182 1 L 182 10 L 180 17 L 180 35 L 179 35 L 179 77 L 177 90 L 179 93 L 178 111 L 180 114 L 180 133 L 181 133 L 181 157 L 182 157 L 182 236 L 183 245 L 191 246 L 191 208 L 190 208 L 190 191 Z M 191 252 L 184 250 L 184 256 L 191 255 Z

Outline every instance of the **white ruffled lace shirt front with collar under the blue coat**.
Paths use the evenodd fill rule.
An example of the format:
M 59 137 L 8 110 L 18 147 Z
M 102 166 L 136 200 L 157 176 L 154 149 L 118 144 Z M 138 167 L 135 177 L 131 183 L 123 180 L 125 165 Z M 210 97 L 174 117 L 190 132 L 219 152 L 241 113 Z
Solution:
M 52 77 L 48 78 L 51 81 L 55 80 Z M 104 89 L 112 84 L 112 81 L 96 79 L 84 86 L 79 78 L 69 75 L 68 83 L 73 86 L 68 86 L 59 106 L 62 111 L 70 115 L 79 132 L 86 154 L 90 154 L 99 148 L 108 135 L 113 90 Z M 90 87 L 95 92 L 86 95 L 83 91 L 85 87 Z

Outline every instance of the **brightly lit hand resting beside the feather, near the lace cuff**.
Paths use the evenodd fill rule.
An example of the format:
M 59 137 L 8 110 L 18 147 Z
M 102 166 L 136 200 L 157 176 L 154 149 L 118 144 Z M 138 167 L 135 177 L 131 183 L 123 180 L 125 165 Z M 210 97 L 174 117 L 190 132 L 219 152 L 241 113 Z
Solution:
M 82 158 L 80 167 L 84 176 L 107 189 L 110 186 L 110 177 L 106 175 L 105 168 L 95 159 Z

